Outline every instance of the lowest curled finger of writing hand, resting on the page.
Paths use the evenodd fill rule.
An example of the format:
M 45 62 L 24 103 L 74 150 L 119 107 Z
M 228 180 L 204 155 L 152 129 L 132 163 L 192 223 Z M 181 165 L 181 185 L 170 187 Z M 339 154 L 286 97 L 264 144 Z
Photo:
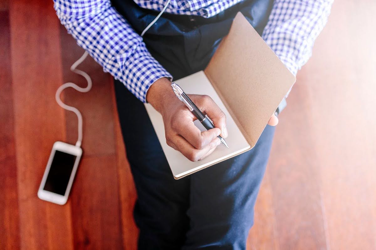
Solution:
M 177 151 L 180 151 L 186 158 L 188 158 L 188 160 L 192 162 L 204 159 L 206 156 L 211 154 L 220 143 L 220 139 L 215 137 L 204 148 L 197 149 L 180 135 L 175 135 L 167 141 L 167 144 L 170 147 L 174 148 Z

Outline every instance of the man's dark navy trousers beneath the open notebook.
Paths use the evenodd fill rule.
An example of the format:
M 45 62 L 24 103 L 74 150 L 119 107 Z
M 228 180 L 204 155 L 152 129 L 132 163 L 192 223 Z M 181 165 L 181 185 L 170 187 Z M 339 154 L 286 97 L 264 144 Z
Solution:
M 206 67 L 238 11 L 261 34 L 272 2 L 242 1 L 212 18 L 164 13 L 144 42 L 179 79 Z M 158 15 L 131 0 L 112 4 L 139 33 Z M 274 127 L 265 127 L 252 150 L 175 180 L 144 104 L 119 81 L 115 92 L 138 195 L 139 249 L 245 249 Z

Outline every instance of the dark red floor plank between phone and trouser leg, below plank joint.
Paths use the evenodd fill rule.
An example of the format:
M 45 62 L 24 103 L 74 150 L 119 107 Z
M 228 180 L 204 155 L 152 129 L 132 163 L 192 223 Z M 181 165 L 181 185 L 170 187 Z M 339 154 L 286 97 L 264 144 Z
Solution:
M 76 249 L 122 248 L 118 204 L 115 156 L 84 156 L 71 192 Z

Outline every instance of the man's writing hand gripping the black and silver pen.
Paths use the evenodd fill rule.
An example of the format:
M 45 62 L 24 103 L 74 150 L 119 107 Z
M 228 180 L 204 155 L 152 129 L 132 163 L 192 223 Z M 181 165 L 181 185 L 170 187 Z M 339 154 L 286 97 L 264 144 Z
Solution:
M 195 162 L 215 150 L 220 144 L 218 135 L 227 137 L 226 115 L 209 96 L 192 94 L 189 97 L 212 120 L 214 129 L 201 132 L 194 125 L 193 121 L 197 118 L 177 99 L 167 78 L 161 78 L 150 86 L 146 100 L 163 117 L 167 145 Z

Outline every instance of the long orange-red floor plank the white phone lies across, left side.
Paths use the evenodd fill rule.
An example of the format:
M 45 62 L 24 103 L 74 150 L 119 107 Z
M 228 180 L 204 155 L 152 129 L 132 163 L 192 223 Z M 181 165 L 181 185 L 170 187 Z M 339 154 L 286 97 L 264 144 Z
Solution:
M 52 1 L 10 4 L 20 244 L 23 249 L 71 249 L 70 205 L 36 195 L 53 143 L 65 141 L 64 112 L 55 102 L 62 82 L 59 22 Z

